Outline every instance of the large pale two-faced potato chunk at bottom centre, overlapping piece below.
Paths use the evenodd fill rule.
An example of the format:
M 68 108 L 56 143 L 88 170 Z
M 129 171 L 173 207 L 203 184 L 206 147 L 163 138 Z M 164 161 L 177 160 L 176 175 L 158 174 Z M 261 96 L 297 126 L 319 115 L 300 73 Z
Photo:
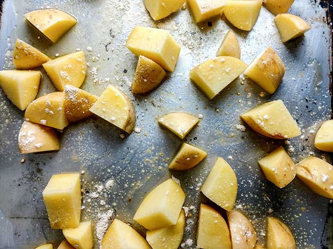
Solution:
M 148 230 L 176 225 L 184 200 L 183 189 L 168 179 L 147 194 L 133 219 Z

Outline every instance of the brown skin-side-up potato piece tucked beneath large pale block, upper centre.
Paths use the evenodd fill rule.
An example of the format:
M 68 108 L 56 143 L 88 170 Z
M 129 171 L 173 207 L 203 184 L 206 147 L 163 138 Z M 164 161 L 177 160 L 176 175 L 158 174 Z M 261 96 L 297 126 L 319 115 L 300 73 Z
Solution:
M 132 84 L 132 92 L 135 94 L 148 93 L 154 90 L 164 77 L 166 77 L 166 71 L 159 64 L 140 55 Z

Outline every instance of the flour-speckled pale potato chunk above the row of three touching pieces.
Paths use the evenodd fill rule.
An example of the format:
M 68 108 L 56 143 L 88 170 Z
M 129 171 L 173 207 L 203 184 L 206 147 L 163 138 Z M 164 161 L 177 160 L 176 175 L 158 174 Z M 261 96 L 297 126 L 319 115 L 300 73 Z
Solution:
M 64 91 L 67 84 L 80 87 L 86 78 L 87 64 L 83 51 L 46 62 L 43 67 L 59 91 Z

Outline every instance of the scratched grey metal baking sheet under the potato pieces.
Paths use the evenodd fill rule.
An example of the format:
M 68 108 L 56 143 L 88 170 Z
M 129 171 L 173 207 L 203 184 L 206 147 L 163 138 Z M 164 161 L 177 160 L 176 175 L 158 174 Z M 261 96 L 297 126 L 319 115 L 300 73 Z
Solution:
M 59 8 L 78 23 L 57 43 L 51 44 L 29 27 L 23 14 L 40 8 Z M 137 133 L 121 138 L 119 129 L 96 116 L 67 127 L 58 152 L 20 155 L 18 132 L 24 112 L 0 91 L 0 249 L 26 249 L 49 242 L 57 246 L 61 231 L 51 230 L 42 191 L 52 174 L 82 171 L 82 219 L 94 222 L 96 248 L 112 219 L 133 224 L 133 214 L 143 196 L 171 175 L 180 179 L 190 208 L 183 246 L 195 248 L 198 206 L 209 201 L 199 189 L 216 156 L 223 157 L 238 177 L 235 208 L 253 221 L 258 240 L 264 243 L 265 218 L 276 216 L 287 223 L 302 249 L 333 248 L 333 204 L 311 192 L 297 178 L 283 189 L 265 180 L 257 160 L 283 145 L 295 162 L 316 155 L 332 162 L 330 155 L 313 146 L 319 125 L 332 116 L 330 75 L 331 29 L 328 3 L 296 0 L 290 13 L 307 20 L 312 29 L 304 37 L 281 43 L 273 16 L 264 8 L 250 32 L 239 31 L 226 19 L 215 18 L 196 25 L 189 8 L 154 22 L 143 0 L 4 0 L 0 29 L 0 65 L 13 68 L 11 52 L 16 38 L 41 49 L 49 57 L 82 49 L 89 62 L 82 89 L 99 95 L 112 83 L 133 100 Z M 164 28 L 181 45 L 173 73 L 145 96 L 133 96 L 130 85 L 137 58 L 125 47 L 134 26 Z M 233 29 L 241 47 L 241 59 L 251 60 L 268 45 L 282 58 L 286 74 L 273 95 L 247 80 L 238 79 L 209 101 L 189 81 L 190 69 L 214 57 L 223 35 Z M 92 51 L 87 51 L 91 47 Z M 90 49 L 88 49 L 90 50 Z M 47 75 L 39 96 L 55 91 Z M 282 99 L 302 129 L 302 136 L 288 141 L 263 138 L 242 124 L 239 114 L 267 101 Z M 208 152 L 208 157 L 187 172 L 170 172 L 168 159 L 182 141 L 160 127 L 156 118 L 172 110 L 203 116 L 186 141 Z M 200 115 L 200 116 L 201 116 Z M 191 243 L 191 240 L 193 243 Z

